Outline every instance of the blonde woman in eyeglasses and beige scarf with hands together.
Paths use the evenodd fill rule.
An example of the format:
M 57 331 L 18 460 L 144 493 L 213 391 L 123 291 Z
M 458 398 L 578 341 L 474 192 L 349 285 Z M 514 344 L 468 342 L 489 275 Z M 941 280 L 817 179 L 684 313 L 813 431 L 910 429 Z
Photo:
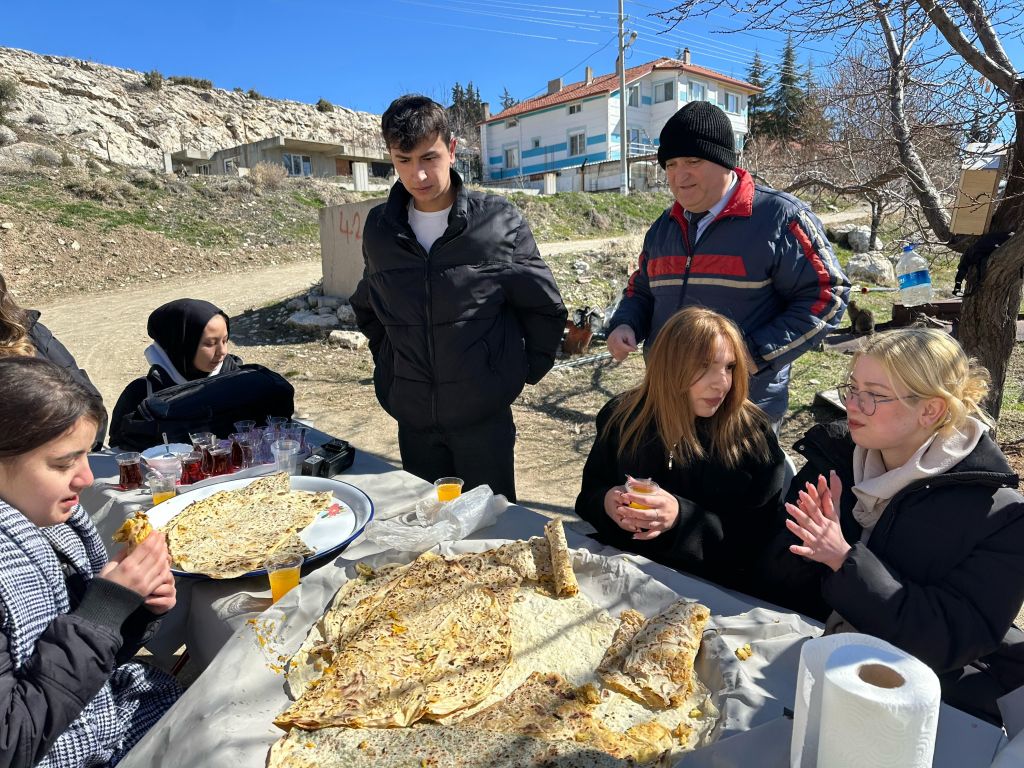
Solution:
M 1024 684 L 1024 498 L 980 407 L 988 373 L 933 329 L 877 334 L 790 486 L 775 602 L 921 658 L 943 699 L 999 723 Z M 787 551 L 786 551 L 787 550 Z

